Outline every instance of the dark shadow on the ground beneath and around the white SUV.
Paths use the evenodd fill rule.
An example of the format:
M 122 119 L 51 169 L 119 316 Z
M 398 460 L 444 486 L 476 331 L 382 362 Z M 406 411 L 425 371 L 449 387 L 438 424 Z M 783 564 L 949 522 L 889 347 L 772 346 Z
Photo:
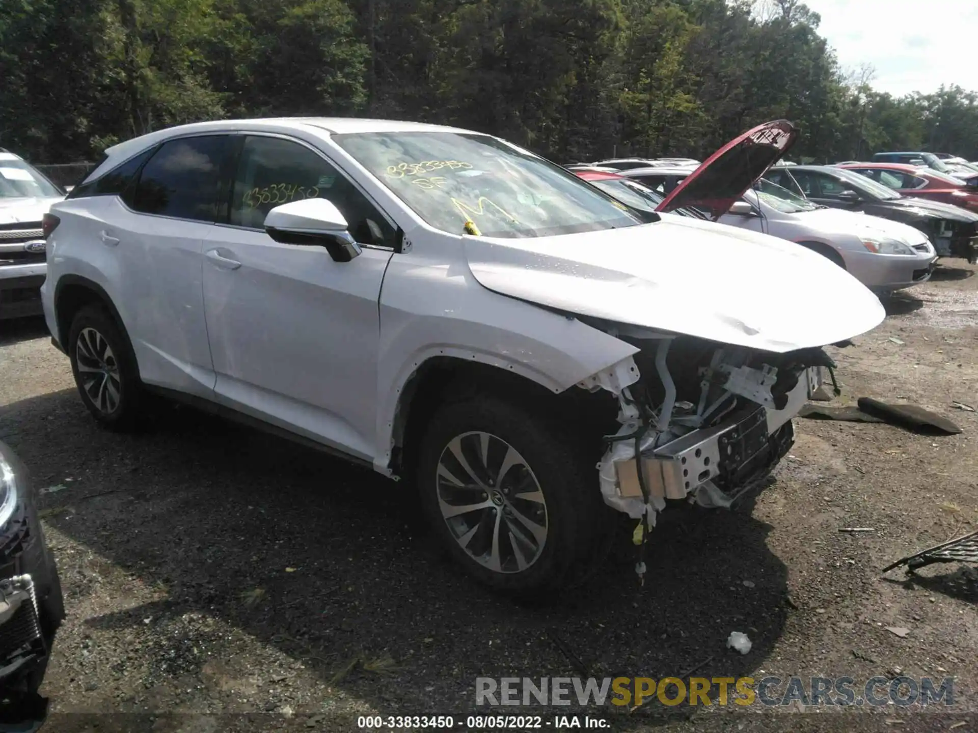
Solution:
M 0 416 L 0 434 L 33 467 L 36 486 L 73 479 L 39 499 L 46 521 L 90 551 L 58 557 L 68 613 L 70 599 L 91 592 L 84 555 L 166 589 L 163 600 L 124 610 L 100 596 L 111 610 L 59 637 L 67 649 L 86 635 L 104 648 L 100 634 L 118 632 L 132 655 L 160 658 L 158 639 L 182 638 L 183 661 L 157 666 L 145 687 L 189 687 L 208 660 L 234 656 L 226 637 L 201 638 L 188 615 L 233 625 L 314 669 L 334 691 L 397 714 L 492 712 L 475 708 L 476 676 L 751 675 L 785 624 L 786 568 L 749 498 L 733 511 L 680 506 L 662 514 L 646 545 L 644 586 L 626 538 L 586 587 L 548 604 L 517 604 L 469 582 L 433 546 L 404 482 L 195 410 L 167 414 L 152 432 L 111 434 L 66 390 Z M 753 641 L 745 656 L 726 648 L 734 630 Z M 134 640 L 141 634 L 148 647 Z M 198 653 L 204 646 L 209 656 Z M 55 674 L 58 656 L 56 644 Z M 262 673 L 260 662 L 250 664 Z M 132 682 L 145 693 L 141 680 Z M 254 710 L 275 709 L 273 688 L 252 696 Z M 97 699 L 86 693 L 93 705 Z M 116 710 L 133 699 L 116 695 L 105 705 Z M 615 727 L 693 710 L 653 702 L 614 715 Z M 617 712 L 627 708 L 601 709 Z M 355 720 L 345 714 L 353 713 L 324 724 L 346 729 Z

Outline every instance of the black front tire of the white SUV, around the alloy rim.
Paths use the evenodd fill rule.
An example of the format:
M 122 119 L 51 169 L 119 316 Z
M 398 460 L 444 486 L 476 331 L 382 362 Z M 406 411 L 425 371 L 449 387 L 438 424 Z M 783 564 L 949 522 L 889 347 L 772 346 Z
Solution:
M 525 569 L 513 570 L 510 567 L 509 572 L 500 572 L 480 563 L 457 539 L 462 530 L 450 529 L 448 520 L 442 515 L 439 491 L 444 492 L 446 484 L 442 481 L 442 488 L 439 489 L 437 478 L 442 453 L 457 437 L 475 432 L 488 433 L 515 449 L 524 459 L 544 496 L 546 539 L 535 560 Z M 492 451 L 490 449 L 490 453 Z M 495 397 L 469 397 L 442 406 L 428 421 L 419 448 L 415 481 L 422 508 L 434 533 L 469 576 L 498 591 L 539 598 L 587 580 L 610 549 L 609 539 L 615 527 L 616 515 L 600 497 L 595 468 L 598 456 L 590 455 L 592 452 L 593 449 L 589 449 L 579 436 L 559 423 L 541 417 L 538 411 L 524 410 Z M 498 451 L 496 457 L 499 457 Z M 496 466 L 501 462 L 496 461 Z M 518 470 L 523 472 L 525 469 Z M 502 479 L 508 476 L 509 471 L 500 477 L 498 489 L 503 489 L 506 482 Z M 522 480 L 525 477 L 526 474 L 522 473 Z M 520 476 L 517 474 L 515 478 L 519 479 Z M 489 486 L 492 486 L 491 482 Z M 450 492 L 473 491 L 455 490 L 451 486 L 447 486 L 447 489 Z M 495 493 L 500 494 L 499 491 Z M 512 496 L 520 495 L 513 490 Z M 466 500 L 460 503 L 466 503 Z M 493 507 L 488 509 L 494 517 Z M 503 505 L 504 514 L 507 509 L 512 509 L 509 502 Z M 465 521 L 471 522 L 470 526 L 476 524 L 474 519 L 468 518 L 477 514 L 465 516 Z M 501 519 L 511 522 L 511 517 L 510 514 Z M 512 525 L 508 527 L 512 528 Z M 477 532 L 470 542 L 478 537 Z M 501 536 L 499 542 L 512 548 L 511 535 Z

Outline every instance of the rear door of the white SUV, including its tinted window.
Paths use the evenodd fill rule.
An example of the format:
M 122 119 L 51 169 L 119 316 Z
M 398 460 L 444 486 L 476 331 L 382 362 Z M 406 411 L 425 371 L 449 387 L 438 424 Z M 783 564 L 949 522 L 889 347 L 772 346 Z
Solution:
M 201 248 L 217 217 L 228 135 L 163 143 L 90 222 L 108 280 L 148 384 L 211 397 L 214 373 L 203 315 Z M 111 178 L 111 174 L 106 177 Z M 115 272 L 111 272 L 115 268 Z

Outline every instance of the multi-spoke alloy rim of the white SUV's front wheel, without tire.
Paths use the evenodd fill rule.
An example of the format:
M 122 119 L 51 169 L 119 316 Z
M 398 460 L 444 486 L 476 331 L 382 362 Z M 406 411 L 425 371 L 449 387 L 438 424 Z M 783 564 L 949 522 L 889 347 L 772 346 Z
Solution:
M 547 501 L 526 460 L 490 433 L 456 436 L 435 477 L 438 506 L 452 536 L 479 564 L 520 573 L 547 542 Z

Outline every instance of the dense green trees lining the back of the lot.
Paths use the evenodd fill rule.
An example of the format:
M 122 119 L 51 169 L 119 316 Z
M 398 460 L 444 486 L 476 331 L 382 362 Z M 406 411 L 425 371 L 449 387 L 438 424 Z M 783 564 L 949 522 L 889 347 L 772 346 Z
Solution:
M 200 119 L 452 123 L 560 161 L 715 150 L 787 117 L 792 157 L 978 158 L 978 96 L 842 73 L 798 0 L 0 0 L 0 146 L 36 162 Z

